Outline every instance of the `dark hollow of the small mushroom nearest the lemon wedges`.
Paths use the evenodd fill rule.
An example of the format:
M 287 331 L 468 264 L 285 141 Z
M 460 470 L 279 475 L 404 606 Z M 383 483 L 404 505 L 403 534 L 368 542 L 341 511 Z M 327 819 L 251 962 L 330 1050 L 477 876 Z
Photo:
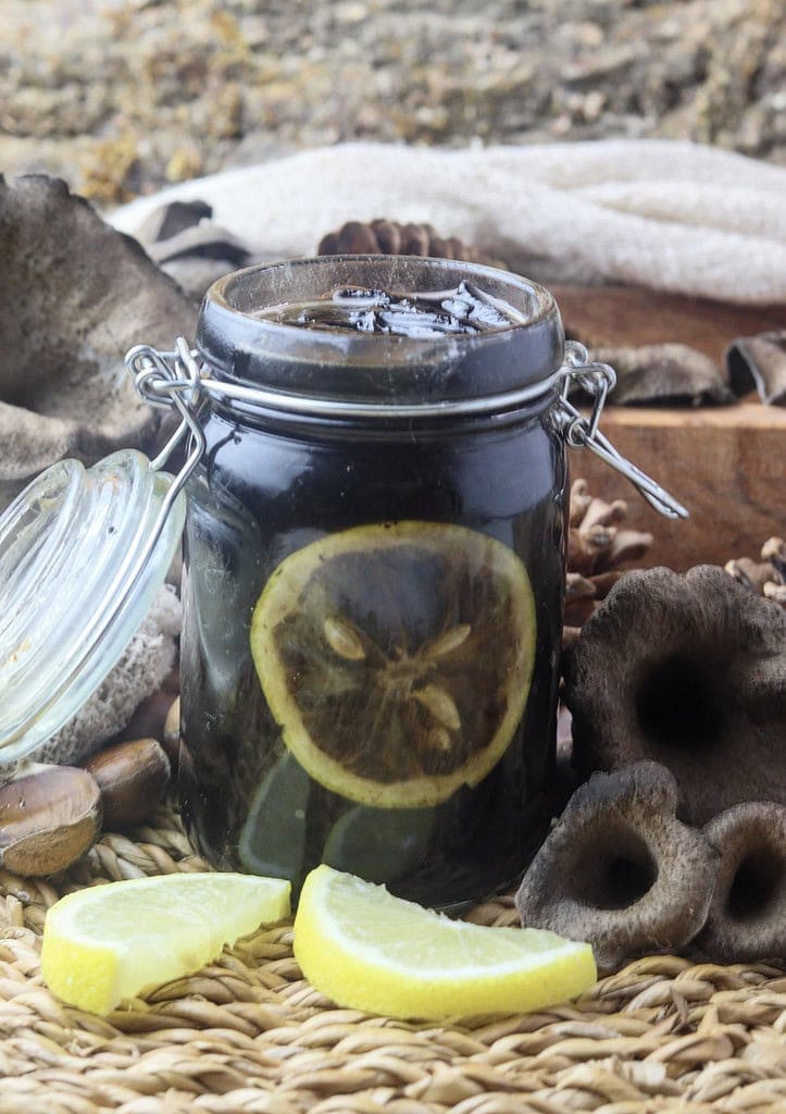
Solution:
M 627 909 L 647 893 L 658 868 L 643 839 L 632 830 L 587 839 L 573 863 L 576 897 L 596 909 Z

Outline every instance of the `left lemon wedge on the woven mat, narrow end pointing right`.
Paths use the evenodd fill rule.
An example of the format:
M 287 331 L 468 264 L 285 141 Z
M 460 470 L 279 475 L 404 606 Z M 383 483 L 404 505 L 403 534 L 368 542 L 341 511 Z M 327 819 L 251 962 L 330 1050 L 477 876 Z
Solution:
M 225 944 L 289 916 L 289 882 L 230 873 L 134 878 L 77 890 L 47 913 L 52 994 L 108 1014 L 145 987 L 199 970 Z

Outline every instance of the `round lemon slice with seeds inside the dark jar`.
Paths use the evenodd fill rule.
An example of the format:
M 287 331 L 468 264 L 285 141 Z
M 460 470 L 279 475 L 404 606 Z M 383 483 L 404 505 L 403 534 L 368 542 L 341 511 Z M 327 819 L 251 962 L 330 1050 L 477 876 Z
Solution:
M 434 805 L 489 773 L 527 704 L 534 644 L 513 550 L 421 521 L 296 550 L 250 629 L 287 747 L 322 785 L 376 808 Z

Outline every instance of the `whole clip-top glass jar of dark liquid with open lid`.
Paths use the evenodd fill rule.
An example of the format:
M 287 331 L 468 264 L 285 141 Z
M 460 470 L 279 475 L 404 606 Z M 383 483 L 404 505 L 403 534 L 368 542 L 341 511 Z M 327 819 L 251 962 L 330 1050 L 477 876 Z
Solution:
M 461 282 L 503 301 L 510 328 L 413 338 L 259 316 L 342 286 Z M 2 761 L 100 683 L 185 515 L 180 795 L 199 850 L 295 885 L 327 861 L 442 907 L 512 882 L 548 821 L 566 444 L 686 514 L 599 431 L 613 371 L 566 343 L 542 287 L 393 256 L 228 275 L 194 349 L 140 345 L 127 367 L 180 414 L 164 452 L 57 465 L 0 522 Z

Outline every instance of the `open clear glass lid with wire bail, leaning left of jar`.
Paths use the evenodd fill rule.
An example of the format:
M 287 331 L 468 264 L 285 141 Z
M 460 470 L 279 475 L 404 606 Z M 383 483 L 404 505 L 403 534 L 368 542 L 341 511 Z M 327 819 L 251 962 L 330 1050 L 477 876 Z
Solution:
M 139 359 L 145 382 L 158 382 Z M 183 422 L 154 461 L 135 449 L 91 468 L 62 460 L 0 517 L 0 766 L 33 752 L 86 703 L 164 583 L 185 521 L 181 488 L 204 446 L 174 389 Z M 163 468 L 187 431 L 193 448 L 173 479 Z

